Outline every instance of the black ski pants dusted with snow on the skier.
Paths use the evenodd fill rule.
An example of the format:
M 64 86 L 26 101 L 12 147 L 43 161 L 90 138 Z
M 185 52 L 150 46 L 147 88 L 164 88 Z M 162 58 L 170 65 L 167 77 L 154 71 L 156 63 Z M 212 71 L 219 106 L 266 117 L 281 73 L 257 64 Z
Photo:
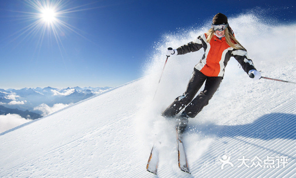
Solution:
M 204 106 L 209 104 L 209 100 L 212 98 L 214 93 L 218 90 L 218 87 L 222 81 L 223 77 L 208 77 L 202 72 L 194 68 L 191 79 L 189 80 L 186 91 L 183 95 L 177 97 L 175 101 L 165 109 L 161 114 L 164 117 L 176 116 L 185 106 L 185 113 L 189 117 L 195 117 Z M 195 98 L 194 96 L 202 87 L 203 83 L 205 87 L 203 91 L 199 93 Z M 194 99 L 193 99 L 194 98 Z

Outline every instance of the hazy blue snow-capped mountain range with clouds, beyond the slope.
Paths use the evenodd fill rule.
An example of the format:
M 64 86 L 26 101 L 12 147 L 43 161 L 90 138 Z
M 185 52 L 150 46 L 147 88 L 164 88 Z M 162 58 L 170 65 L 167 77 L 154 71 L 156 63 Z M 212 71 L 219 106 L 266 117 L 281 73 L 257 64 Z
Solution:
M 52 107 L 54 104 L 63 103 L 71 104 L 76 103 L 93 95 L 102 93 L 109 90 L 112 87 L 68 87 L 68 88 L 22 88 L 16 89 L 1 89 L 0 88 L 0 105 L 5 108 L 17 109 L 9 110 L 12 113 L 20 113 L 20 110 L 32 111 L 34 107 L 43 103 Z M 6 109 L 7 110 L 7 109 Z M 42 114 L 40 111 L 34 110 L 38 114 Z M 4 114 L 4 113 L 0 113 Z M 29 114 L 31 116 L 31 114 Z M 36 116 L 38 117 L 38 116 Z M 25 117 L 27 118 L 27 117 Z

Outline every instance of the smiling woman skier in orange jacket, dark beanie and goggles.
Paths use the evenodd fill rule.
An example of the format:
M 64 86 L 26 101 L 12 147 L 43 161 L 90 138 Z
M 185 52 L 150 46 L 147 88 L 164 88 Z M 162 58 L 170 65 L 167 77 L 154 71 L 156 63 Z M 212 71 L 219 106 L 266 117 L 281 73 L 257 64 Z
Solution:
M 205 53 L 199 63 L 195 65 L 186 91 L 183 95 L 177 97 L 161 114 L 164 117 L 174 117 L 186 106 L 180 117 L 177 117 L 177 128 L 181 133 L 184 132 L 188 124 L 188 118 L 194 118 L 209 103 L 209 100 L 217 91 L 230 57 L 234 57 L 247 74 L 252 73 L 254 80 L 261 78 L 261 74 L 255 69 L 247 50 L 234 37 L 224 14 L 218 13 L 214 16 L 211 29 L 207 33 L 177 49 L 168 48 L 166 55 L 169 57 L 186 54 L 198 51 L 201 48 Z M 194 98 L 204 82 L 206 83 L 203 91 Z

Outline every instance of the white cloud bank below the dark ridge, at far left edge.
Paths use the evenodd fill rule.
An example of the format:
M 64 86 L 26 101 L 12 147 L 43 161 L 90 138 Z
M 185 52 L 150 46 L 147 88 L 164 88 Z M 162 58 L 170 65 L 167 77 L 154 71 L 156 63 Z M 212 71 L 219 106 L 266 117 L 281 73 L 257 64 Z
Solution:
M 18 114 L 0 115 L 0 133 L 5 132 L 11 128 L 15 128 L 21 124 L 32 121 L 25 119 Z

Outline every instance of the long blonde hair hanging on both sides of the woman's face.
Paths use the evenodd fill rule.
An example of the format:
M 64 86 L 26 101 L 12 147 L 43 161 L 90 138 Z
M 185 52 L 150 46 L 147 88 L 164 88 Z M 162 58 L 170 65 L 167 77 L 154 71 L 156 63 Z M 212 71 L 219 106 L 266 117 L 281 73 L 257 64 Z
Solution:
M 207 34 L 207 42 L 210 43 L 215 31 L 211 28 L 206 34 Z M 246 50 L 241 43 L 237 41 L 237 39 L 233 36 L 233 34 L 228 30 L 228 28 L 225 29 L 225 40 L 226 43 L 237 50 Z M 234 43 L 233 43 L 234 42 Z

